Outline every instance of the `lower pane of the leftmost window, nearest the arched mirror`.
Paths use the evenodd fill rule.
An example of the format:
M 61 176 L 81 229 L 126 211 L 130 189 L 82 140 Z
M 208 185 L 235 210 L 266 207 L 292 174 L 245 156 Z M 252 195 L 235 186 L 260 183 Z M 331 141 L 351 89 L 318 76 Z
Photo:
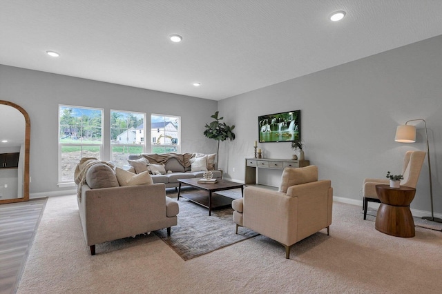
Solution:
M 61 182 L 74 182 L 75 166 L 81 157 L 96 157 L 100 155 L 99 146 L 61 146 Z

